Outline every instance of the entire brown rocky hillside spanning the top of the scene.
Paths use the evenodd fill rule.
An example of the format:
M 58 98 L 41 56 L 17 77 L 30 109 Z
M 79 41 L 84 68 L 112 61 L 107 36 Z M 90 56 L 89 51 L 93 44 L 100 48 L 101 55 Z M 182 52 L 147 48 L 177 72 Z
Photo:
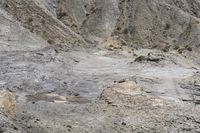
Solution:
M 1 7 L 49 43 L 119 36 L 134 47 L 199 47 L 199 0 L 3 0 Z

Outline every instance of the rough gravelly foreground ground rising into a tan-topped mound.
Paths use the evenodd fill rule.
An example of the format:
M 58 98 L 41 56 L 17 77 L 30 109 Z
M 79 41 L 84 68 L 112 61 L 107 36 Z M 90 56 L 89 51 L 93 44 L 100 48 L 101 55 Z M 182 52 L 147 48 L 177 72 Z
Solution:
M 28 132 L 200 131 L 199 107 L 146 94 L 134 81 L 119 81 L 105 88 L 99 98 L 90 104 L 40 102 L 20 108 L 27 112 L 19 115 L 18 122 Z

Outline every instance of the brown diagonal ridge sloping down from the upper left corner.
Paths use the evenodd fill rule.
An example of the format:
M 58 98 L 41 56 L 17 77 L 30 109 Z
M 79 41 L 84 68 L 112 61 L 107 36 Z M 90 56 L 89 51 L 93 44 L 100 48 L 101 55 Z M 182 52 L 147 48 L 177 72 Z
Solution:
M 58 21 L 49 12 L 42 1 L 3 0 L 1 8 L 11 14 L 23 27 L 41 36 L 49 44 L 59 44 L 63 49 L 85 44 L 82 37 Z

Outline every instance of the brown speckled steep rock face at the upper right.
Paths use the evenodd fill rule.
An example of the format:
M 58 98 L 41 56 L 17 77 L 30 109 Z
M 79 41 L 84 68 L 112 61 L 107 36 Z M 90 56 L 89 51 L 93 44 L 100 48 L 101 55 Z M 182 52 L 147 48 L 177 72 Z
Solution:
M 121 15 L 114 34 L 148 47 L 198 47 L 199 8 L 197 0 L 121 0 Z

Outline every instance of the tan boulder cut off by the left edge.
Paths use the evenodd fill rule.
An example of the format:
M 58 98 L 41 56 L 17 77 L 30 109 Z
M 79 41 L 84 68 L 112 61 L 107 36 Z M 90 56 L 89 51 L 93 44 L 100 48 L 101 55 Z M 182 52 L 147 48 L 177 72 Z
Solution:
M 12 118 L 16 116 L 16 99 L 11 92 L 0 91 L 0 112 Z

